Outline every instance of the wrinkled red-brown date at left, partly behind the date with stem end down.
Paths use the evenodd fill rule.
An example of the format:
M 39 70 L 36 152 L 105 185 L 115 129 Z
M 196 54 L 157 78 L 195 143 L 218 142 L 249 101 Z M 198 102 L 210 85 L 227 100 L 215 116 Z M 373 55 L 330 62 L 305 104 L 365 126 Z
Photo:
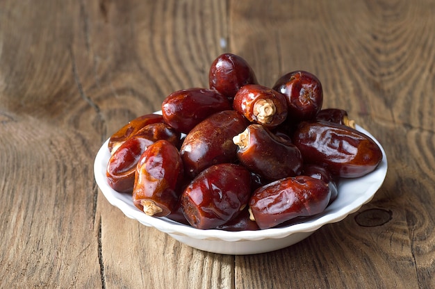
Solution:
M 133 191 L 136 165 L 145 149 L 153 143 L 154 140 L 145 136 L 133 135 L 110 156 L 106 176 L 113 190 L 129 193 Z

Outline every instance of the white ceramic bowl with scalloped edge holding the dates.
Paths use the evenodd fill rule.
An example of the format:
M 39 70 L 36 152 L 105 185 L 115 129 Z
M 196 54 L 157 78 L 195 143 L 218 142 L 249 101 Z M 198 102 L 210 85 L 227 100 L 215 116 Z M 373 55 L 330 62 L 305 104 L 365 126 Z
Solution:
M 356 129 L 366 133 L 375 142 L 368 131 L 356 126 Z M 379 147 L 381 145 L 377 142 Z M 108 185 L 106 181 L 106 166 L 110 158 L 108 140 L 98 151 L 94 163 L 95 180 L 101 192 L 110 204 L 120 208 L 122 213 L 131 219 L 138 220 L 145 226 L 154 226 L 190 247 L 220 254 L 258 254 L 274 251 L 295 244 L 307 238 L 321 226 L 339 222 L 347 215 L 356 212 L 368 203 L 384 182 L 387 171 L 385 151 L 381 147 L 383 158 L 374 172 L 358 179 L 342 179 L 338 183 L 338 197 L 320 215 L 311 217 L 304 222 L 282 228 L 258 231 L 221 231 L 201 230 L 192 226 L 179 224 L 165 217 L 150 217 L 133 205 L 131 195 L 120 194 Z

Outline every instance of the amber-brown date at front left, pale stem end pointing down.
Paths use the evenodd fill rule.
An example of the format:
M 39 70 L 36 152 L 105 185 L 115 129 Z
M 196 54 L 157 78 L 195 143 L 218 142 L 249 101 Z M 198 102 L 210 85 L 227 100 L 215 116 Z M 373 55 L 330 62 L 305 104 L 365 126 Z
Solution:
M 138 161 L 133 204 L 147 215 L 165 217 L 177 208 L 182 181 L 183 163 L 177 147 L 158 140 Z

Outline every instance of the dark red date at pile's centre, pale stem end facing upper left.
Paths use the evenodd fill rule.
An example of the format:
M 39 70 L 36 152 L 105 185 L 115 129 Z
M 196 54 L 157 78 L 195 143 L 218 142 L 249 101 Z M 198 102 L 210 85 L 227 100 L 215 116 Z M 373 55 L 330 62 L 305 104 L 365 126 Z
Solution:
M 250 124 L 233 142 L 238 160 L 251 172 L 265 179 L 296 176 L 302 170 L 302 154 L 295 145 L 281 142 L 261 124 Z

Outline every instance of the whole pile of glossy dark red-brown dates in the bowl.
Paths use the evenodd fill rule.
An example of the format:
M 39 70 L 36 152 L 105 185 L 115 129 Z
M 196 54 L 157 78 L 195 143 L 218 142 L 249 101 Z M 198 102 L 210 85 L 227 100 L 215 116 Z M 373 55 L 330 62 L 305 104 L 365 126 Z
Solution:
M 131 120 L 108 142 L 109 185 L 147 215 L 197 229 L 285 226 L 322 213 L 340 178 L 381 162 L 345 110 L 322 109 L 322 85 L 309 72 L 268 88 L 243 58 L 224 53 L 208 77 L 209 88 L 173 92 L 161 115 Z

